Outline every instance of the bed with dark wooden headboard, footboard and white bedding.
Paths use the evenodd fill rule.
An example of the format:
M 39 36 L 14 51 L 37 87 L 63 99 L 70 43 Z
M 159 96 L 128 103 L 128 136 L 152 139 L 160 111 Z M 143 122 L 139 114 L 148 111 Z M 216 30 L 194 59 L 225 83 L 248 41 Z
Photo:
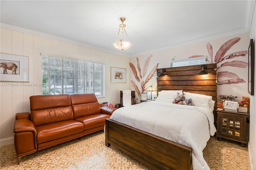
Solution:
M 161 70 L 158 69 L 157 72 Z M 163 99 L 160 96 L 166 94 L 167 91 L 173 95 L 176 90 L 183 90 L 185 96 L 187 95 L 198 102 L 196 95 L 207 95 L 210 96 L 208 97 L 209 101 L 212 101 L 210 104 L 212 109 L 210 107 L 209 109 L 201 108 L 201 106 L 178 106 L 171 102 L 159 101 L 158 98 L 156 101 L 117 109 L 113 113 L 113 117 L 106 119 L 106 146 L 113 145 L 154 170 L 208 169 L 209 167 L 202 157 L 202 150 L 210 135 L 214 135 L 216 132 L 214 127 L 216 103 L 213 102 L 217 98 L 216 64 L 207 65 L 205 70 L 209 73 L 208 75 L 198 75 L 200 70 L 201 67 L 198 65 L 165 68 L 164 74 L 167 76 L 157 78 L 158 97 Z M 196 95 L 193 96 L 194 94 Z M 175 111 L 171 111 L 173 108 Z M 204 112 L 209 116 L 206 116 Z M 181 113 L 185 113 L 185 115 Z M 189 116 L 191 115 L 195 119 L 194 123 L 192 120 L 190 121 L 192 118 Z M 130 123 L 127 120 L 130 120 Z M 164 120 L 168 120 L 167 123 Z M 185 120 L 185 124 L 182 124 L 181 127 L 180 120 Z M 167 127 L 168 124 L 172 127 Z M 194 132 L 198 129 L 197 125 L 201 124 L 204 124 L 204 128 L 202 128 L 204 129 L 202 132 L 204 133 L 203 139 L 198 135 L 201 134 L 201 131 L 200 133 Z M 208 132 L 205 130 L 206 124 L 208 124 Z M 160 125 L 160 127 L 154 125 Z M 176 127 L 180 128 L 175 130 Z M 194 131 L 186 132 L 186 129 L 191 127 Z M 184 131 L 185 133 L 178 133 L 177 131 Z M 177 135 L 172 137 L 171 134 L 177 134 L 178 137 Z M 198 144 L 198 141 L 188 139 L 189 136 L 202 141 L 202 143 L 199 142 L 200 144 Z

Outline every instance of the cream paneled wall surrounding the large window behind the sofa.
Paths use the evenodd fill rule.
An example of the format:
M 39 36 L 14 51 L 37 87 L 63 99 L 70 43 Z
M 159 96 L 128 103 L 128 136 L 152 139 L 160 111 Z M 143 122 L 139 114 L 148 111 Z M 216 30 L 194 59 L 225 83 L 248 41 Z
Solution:
M 29 82 L 19 84 L 42 83 L 42 56 L 46 53 L 84 61 L 95 61 L 106 65 L 106 97 L 99 102 L 119 103 L 120 90 L 129 89 L 129 58 L 106 53 L 87 47 L 61 42 L 50 38 L 27 34 L 15 30 L 1 28 L 1 53 L 25 55 L 29 57 Z M 116 62 L 118 61 L 118 62 Z M 110 67 L 126 68 L 126 83 L 110 83 Z M 13 143 L 13 125 L 15 114 L 29 112 L 29 97 L 42 95 L 42 87 L 4 86 L 0 82 L 0 145 Z

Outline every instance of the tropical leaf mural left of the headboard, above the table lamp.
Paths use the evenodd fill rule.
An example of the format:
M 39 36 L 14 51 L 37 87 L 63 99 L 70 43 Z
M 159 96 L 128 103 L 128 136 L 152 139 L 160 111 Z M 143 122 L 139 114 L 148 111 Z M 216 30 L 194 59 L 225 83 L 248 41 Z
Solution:
M 156 64 L 156 66 L 148 73 L 148 76 L 146 76 L 146 73 L 148 71 L 148 65 L 149 61 L 152 55 L 146 58 L 146 61 L 143 65 L 143 68 L 141 70 L 140 63 L 138 57 L 136 57 L 137 60 L 137 69 L 134 66 L 133 63 L 130 63 L 130 67 L 132 69 L 132 73 L 136 79 L 136 81 L 140 84 L 139 87 L 137 86 L 135 81 L 132 82 L 132 86 L 134 87 L 136 93 L 138 93 L 138 96 L 140 96 L 140 93 L 143 93 L 148 87 L 146 87 L 146 84 L 154 77 L 154 74 L 156 73 L 156 69 L 158 68 L 159 63 Z

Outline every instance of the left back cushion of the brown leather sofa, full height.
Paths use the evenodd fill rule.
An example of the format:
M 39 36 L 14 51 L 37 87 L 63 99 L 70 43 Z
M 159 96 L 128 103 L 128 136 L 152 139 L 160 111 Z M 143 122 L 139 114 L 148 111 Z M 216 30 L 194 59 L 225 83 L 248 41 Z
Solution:
M 31 96 L 30 110 L 35 126 L 74 119 L 70 95 Z

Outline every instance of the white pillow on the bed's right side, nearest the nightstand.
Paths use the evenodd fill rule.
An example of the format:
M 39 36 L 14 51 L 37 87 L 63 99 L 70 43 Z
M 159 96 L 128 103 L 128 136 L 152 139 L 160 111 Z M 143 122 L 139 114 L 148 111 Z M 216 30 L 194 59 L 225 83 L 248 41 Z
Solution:
M 212 96 L 189 93 L 189 92 L 184 92 L 184 93 L 185 93 L 186 99 L 192 99 L 192 103 L 194 106 L 205 107 L 210 109 L 211 111 L 214 110 L 215 101 L 212 100 Z M 186 102 L 183 104 L 186 105 Z

